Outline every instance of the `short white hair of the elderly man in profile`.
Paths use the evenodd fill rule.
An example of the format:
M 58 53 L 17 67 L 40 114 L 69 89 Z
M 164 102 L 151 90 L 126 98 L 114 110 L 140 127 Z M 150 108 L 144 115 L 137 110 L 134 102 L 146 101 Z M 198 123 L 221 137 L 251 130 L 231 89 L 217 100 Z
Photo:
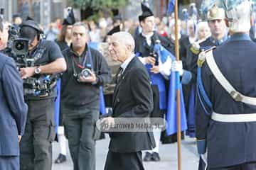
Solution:
M 112 36 L 117 38 L 119 42 L 122 42 L 124 45 L 130 45 L 132 47 L 132 52 L 134 52 L 135 41 L 130 33 L 121 31 L 114 33 Z

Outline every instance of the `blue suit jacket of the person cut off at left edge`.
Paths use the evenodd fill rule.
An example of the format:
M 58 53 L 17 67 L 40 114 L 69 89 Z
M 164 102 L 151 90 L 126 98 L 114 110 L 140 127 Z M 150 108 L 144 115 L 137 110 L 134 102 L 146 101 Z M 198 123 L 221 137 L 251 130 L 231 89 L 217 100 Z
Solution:
M 18 135 L 23 135 L 28 106 L 14 61 L 0 53 L 0 156 L 18 156 Z

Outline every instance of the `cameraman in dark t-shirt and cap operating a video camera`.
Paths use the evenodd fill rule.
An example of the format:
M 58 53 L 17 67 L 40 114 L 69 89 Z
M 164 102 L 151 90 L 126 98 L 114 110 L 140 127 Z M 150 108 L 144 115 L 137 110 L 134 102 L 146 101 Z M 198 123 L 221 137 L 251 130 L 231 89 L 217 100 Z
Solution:
M 20 68 L 28 104 L 26 130 L 20 142 L 21 170 L 50 170 L 54 140 L 54 74 L 66 70 L 55 42 L 41 39 L 43 30 L 32 20 L 21 24 L 20 37 L 28 40 L 28 67 Z

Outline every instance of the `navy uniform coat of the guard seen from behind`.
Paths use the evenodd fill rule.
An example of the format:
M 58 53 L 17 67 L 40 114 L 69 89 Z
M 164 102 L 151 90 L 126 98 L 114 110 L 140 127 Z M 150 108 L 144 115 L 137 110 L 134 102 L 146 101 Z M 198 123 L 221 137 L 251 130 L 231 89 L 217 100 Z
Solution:
M 256 97 L 256 44 L 234 34 L 213 50 L 220 72 L 241 94 Z M 208 63 L 202 67 L 202 81 L 213 103 L 213 111 L 220 114 L 256 113 L 256 106 L 236 102 L 210 72 Z M 199 101 L 199 99 L 198 99 Z M 256 162 L 256 122 L 223 123 L 210 119 L 200 102 L 196 103 L 196 138 L 206 140 L 208 167 L 217 168 Z M 220 157 L 221 155 L 221 157 Z

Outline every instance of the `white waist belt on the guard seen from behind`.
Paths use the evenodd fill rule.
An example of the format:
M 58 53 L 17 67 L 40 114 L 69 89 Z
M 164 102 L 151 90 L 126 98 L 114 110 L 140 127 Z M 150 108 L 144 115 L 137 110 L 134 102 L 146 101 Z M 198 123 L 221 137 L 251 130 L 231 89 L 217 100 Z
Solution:
M 211 115 L 212 120 L 225 123 L 245 123 L 256 122 L 256 113 L 250 114 L 219 114 L 213 112 Z

